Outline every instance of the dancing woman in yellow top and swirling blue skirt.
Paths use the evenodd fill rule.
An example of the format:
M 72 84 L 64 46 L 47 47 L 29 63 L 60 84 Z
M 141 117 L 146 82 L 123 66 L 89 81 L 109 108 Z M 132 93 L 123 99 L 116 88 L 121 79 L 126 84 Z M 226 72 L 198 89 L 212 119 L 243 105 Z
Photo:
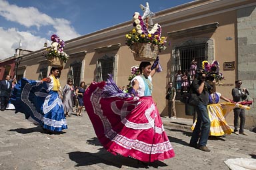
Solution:
M 22 78 L 11 95 L 15 112 L 41 126 L 48 133 L 67 129 L 61 98 L 59 98 L 59 68 L 51 68 L 51 74 L 43 81 Z

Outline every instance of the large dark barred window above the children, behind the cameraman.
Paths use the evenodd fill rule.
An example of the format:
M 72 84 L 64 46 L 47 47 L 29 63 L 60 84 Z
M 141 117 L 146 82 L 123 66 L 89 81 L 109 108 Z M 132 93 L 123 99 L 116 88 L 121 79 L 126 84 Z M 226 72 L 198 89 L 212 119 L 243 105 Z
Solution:
M 175 72 L 181 70 L 181 72 L 189 71 L 191 61 L 195 59 L 197 62 L 197 68 L 201 68 L 203 60 L 207 60 L 208 56 L 208 44 L 193 44 L 187 46 L 179 46 L 175 49 Z

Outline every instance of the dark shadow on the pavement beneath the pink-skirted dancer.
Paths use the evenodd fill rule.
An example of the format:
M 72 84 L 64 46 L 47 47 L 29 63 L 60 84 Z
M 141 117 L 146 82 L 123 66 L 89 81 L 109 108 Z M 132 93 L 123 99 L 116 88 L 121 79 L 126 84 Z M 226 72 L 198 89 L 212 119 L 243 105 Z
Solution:
M 114 167 L 121 168 L 123 165 L 127 167 L 134 167 L 134 168 L 149 168 L 149 167 L 164 167 L 168 166 L 167 164 L 161 161 L 155 161 L 153 163 L 143 163 L 141 161 L 137 161 L 136 159 L 132 159 L 129 157 L 123 157 L 121 155 L 113 155 L 106 151 L 103 147 L 99 149 L 97 153 L 89 153 L 89 152 L 81 152 L 81 151 L 74 151 L 67 153 L 69 154 L 69 158 L 72 161 L 75 161 L 77 165 L 76 167 L 80 166 L 87 166 L 87 165 L 95 165 L 104 163 L 106 165 L 111 165 Z

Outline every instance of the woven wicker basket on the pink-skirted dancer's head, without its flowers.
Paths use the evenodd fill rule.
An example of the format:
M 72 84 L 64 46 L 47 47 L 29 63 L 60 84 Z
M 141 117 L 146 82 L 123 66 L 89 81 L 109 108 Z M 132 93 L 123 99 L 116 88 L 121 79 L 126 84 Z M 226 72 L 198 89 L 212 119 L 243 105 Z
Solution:
M 137 61 L 154 61 L 159 52 L 159 46 L 151 43 L 137 43 L 131 49 Z

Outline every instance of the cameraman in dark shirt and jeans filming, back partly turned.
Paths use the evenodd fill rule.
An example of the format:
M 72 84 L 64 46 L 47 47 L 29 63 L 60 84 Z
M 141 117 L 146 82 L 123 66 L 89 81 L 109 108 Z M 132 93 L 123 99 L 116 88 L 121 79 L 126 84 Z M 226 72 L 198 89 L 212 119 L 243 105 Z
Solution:
M 213 79 L 213 86 L 206 81 L 206 74 L 203 69 L 197 70 L 197 77 L 191 84 L 191 90 L 197 94 L 199 104 L 195 106 L 197 112 L 197 123 L 193 130 L 189 145 L 198 148 L 202 151 L 210 151 L 206 146 L 209 137 L 211 121 L 207 113 L 207 104 L 209 102 L 209 91 L 215 92 L 215 80 Z M 197 143 L 198 142 L 198 143 Z

